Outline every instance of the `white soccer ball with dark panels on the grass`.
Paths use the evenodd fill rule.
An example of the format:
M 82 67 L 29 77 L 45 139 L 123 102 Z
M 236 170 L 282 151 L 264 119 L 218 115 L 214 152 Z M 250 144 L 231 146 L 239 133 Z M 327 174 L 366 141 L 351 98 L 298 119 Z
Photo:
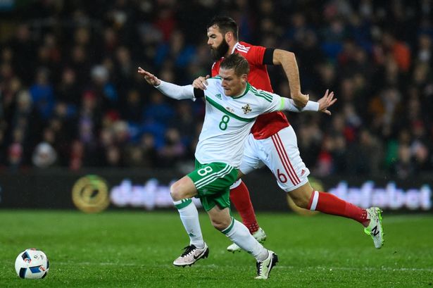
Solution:
M 15 260 L 15 271 L 21 278 L 44 278 L 49 270 L 49 261 L 44 252 L 31 248 L 21 252 Z

